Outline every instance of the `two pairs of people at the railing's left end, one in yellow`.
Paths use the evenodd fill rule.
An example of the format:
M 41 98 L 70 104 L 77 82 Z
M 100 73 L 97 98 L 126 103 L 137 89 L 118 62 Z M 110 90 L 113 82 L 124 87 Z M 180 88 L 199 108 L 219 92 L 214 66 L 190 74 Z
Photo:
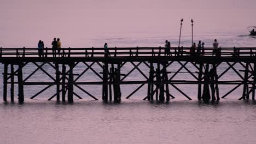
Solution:
M 56 57 L 56 52 L 59 53 L 60 56 L 60 51 L 61 51 L 61 41 L 59 38 L 54 38 L 54 41 L 51 43 L 52 48 L 53 48 L 53 57 Z M 44 41 L 39 40 L 38 42 L 38 56 L 43 57 L 44 55 Z

